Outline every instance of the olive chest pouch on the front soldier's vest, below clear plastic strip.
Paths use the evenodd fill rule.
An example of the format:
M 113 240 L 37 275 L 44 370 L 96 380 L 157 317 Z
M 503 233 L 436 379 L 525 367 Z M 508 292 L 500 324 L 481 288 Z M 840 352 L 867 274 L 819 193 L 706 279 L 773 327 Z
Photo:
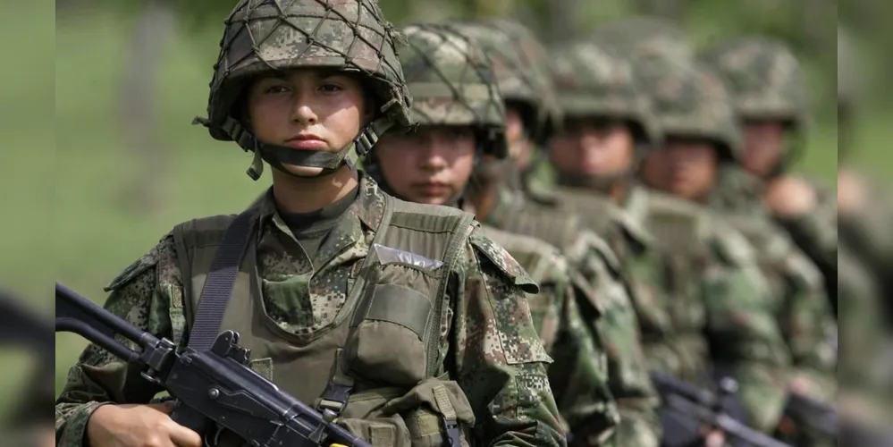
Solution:
M 373 274 L 344 346 L 346 364 L 364 382 L 409 389 L 425 378 L 425 334 L 440 324 L 431 317 L 440 272 L 393 263 Z

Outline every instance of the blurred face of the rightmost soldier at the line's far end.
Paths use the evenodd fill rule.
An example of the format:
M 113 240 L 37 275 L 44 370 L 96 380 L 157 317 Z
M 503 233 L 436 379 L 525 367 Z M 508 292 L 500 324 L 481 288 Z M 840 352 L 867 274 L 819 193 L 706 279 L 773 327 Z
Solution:
M 769 175 L 779 164 L 785 147 L 785 127 L 778 121 L 746 121 L 744 166 L 754 175 Z

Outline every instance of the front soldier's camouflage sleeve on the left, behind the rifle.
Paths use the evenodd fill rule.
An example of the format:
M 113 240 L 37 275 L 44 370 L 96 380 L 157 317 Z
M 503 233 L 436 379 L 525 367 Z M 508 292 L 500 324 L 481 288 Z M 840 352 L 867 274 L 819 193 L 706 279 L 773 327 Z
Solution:
M 173 239 L 165 237 L 105 288 L 111 293 L 104 307 L 143 331 L 172 339 L 171 297 L 167 288 L 159 287 L 159 276 L 178 276 L 170 274 L 174 257 Z M 174 282 L 167 278 L 164 283 Z M 135 343 L 120 337 L 118 340 L 136 349 Z M 78 363 L 69 369 L 68 381 L 56 399 L 56 443 L 65 447 L 83 445 L 89 417 L 105 403 L 147 403 L 162 391 L 143 379 L 140 372 L 139 367 L 89 344 Z

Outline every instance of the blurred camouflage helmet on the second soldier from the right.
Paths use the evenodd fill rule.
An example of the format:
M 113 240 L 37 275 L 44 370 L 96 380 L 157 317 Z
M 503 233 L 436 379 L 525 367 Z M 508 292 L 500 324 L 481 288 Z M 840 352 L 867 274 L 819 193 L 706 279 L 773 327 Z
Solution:
M 741 131 L 719 74 L 703 63 L 651 61 L 636 66 L 664 138 L 707 139 L 726 161 L 739 161 Z

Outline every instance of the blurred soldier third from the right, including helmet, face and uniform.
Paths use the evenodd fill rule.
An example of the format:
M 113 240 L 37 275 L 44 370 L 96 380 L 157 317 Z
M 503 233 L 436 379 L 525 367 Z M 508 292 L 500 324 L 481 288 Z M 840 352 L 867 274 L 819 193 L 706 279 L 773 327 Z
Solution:
M 770 429 L 783 403 L 779 384 L 787 379 L 789 358 L 753 250 L 741 235 L 720 233 L 725 230 L 702 208 L 637 185 L 638 164 L 661 143 L 663 129 L 630 63 L 593 43 L 565 46 L 553 58 L 565 122 L 550 155 L 565 207 L 591 207 L 601 197 L 644 228 L 657 253 L 649 270 L 664 294 L 637 305 L 652 367 L 707 384 L 711 375 L 733 375 L 746 421 Z M 665 434 L 690 434 L 690 425 L 671 421 L 664 418 Z

